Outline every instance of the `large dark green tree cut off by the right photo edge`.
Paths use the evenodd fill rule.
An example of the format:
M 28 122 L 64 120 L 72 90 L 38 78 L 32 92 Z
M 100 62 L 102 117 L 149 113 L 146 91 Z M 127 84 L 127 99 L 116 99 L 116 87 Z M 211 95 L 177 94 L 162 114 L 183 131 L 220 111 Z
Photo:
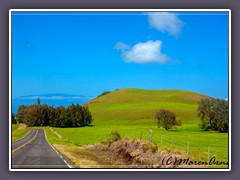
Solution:
M 228 101 L 215 98 L 204 98 L 199 102 L 199 127 L 204 130 L 228 132 Z

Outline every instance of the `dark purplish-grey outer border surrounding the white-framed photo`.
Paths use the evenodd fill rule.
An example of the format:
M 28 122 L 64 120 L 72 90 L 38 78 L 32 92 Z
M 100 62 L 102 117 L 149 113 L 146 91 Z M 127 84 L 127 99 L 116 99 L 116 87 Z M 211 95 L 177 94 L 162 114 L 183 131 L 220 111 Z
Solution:
M 26 9 L 26 8 L 50 8 L 50 9 L 64 9 L 64 8 L 157 8 L 157 9 L 174 9 L 174 8 L 209 8 L 209 9 L 231 9 L 232 10 L 232 171 L 231 172 L 81 172 L 81 173 L 60 173 L 60 172 L 9 172 L 9 133 L 8 127 L 8 102 L 9 102 L 9 89 L 8 89 L 8 10 L 9 9 Z M 145 1 L 145 0 L 1 0 L 0 2 L 0 174 L 3 179 L 11 180 L 26 180 L 35 179 L 42 180 L 43 178 L 57 178 L 58 180 L 66 180 L 67 178 L 74 179 L 137 179 L 145 180 L 149 178 L 154 179 L 239 179 L 240 169 L 240 145 L 239 145 L 239 127 L 240 127 L 240 51 L 238 48 L 238 39 L 240 39 L 240 3 L 236 0 L 158 0 L 158 1 Z

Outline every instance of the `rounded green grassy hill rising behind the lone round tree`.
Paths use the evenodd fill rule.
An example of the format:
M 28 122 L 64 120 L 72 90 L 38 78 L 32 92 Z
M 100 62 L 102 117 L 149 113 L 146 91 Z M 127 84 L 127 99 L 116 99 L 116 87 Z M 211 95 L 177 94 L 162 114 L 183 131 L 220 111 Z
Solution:
M 206 97 L 183 90 L 120 89 L 87 102 L 95 121 L 148 123 L 161 108 L 176 113 L 183 123 L 196 122 L 198 101 Z

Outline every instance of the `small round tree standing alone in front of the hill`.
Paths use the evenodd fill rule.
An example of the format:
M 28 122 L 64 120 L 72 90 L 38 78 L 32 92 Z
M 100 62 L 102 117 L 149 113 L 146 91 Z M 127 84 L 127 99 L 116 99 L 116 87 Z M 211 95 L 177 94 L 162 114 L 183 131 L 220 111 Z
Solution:
M 155 113 L 157 126 L 164 127 L 166 130 L 171 129 L 173 126 L 181 126 L 181 122 L 176 119 L 176 115 L 168 110 L 160 109 Z

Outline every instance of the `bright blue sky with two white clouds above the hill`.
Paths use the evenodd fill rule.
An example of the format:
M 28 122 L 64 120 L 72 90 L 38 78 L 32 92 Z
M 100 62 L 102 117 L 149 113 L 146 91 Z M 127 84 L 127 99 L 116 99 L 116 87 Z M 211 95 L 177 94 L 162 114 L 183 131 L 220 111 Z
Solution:
M 227 98 L 228 13 L 13 12 L 13 97 L 121 88 Z

